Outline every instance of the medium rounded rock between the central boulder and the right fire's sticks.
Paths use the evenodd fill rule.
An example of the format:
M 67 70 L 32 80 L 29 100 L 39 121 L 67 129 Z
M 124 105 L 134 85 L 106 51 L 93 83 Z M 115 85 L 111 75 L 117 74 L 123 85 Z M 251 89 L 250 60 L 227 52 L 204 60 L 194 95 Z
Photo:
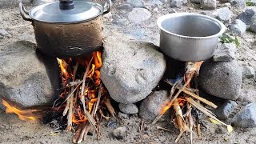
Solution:
M 168 100 L 169 98 L 167 91 L 154 91 L 143 100 L 141 106 L 139 107 L 139 116 L 149 121 L 154 120 Z

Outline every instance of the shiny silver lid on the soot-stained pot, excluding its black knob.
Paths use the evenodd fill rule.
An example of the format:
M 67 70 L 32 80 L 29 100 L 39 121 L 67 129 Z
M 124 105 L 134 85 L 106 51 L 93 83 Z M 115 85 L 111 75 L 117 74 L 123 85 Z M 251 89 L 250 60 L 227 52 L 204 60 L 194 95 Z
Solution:
M 60 2 L 46 3 L 30 10 L 30 17 L 39 22 L 82 22 L 103 13 L 102 6 L 94 2 L 74 1 L 74 8 L 61 10 Z

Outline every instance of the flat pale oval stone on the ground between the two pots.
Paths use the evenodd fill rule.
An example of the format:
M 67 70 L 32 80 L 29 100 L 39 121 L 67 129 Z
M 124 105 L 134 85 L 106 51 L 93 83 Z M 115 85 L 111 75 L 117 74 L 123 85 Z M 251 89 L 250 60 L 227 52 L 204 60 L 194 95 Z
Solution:
M 149 10 L 146 10 L 144 8 L 134 8 L 129 14 L 128 14 L 128 19 L 131 22 L 134 23 L 140 23 L 143 21 L 146 21 L 148 18 L 151 17 L 151 13 Z

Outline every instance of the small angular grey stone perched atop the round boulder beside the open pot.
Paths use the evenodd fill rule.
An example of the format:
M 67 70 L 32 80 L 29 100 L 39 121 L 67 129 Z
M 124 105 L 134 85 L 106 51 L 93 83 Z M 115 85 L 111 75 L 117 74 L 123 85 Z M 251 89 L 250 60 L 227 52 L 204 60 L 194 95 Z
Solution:
M 214 52 L 214 62 L 230 62 L 235 58 L 236 46 L 234 43 L 218 43 Z

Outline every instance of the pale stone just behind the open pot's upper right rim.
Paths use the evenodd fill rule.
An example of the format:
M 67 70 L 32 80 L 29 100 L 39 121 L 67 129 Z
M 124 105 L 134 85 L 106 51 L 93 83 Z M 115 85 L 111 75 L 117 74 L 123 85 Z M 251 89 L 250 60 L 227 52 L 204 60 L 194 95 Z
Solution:
M 230 11 L 228 7 L 222 7 L 215 10 L 213 15 L 214 18 L 217 18 L 224 23 L 229 23 L 231 20 L 232 11 Z

